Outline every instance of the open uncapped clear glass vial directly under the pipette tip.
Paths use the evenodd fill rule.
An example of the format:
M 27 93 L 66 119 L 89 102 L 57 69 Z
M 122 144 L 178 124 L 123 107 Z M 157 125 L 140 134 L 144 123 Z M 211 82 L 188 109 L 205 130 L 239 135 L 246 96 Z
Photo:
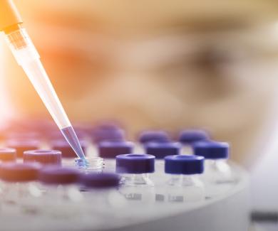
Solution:
M 104 160 L 101 157 L 76 158 L 74 163 L 83 173 L 102 173 L 104 168 Z

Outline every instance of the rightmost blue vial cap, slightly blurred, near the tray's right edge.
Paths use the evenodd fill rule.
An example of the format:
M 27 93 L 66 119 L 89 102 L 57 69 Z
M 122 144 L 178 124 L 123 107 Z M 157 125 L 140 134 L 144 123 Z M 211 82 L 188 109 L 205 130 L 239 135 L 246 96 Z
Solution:
M 204 156 L 205 159 L 228 159 L 229 144 L 217 141 L 200 141 L 193 145 L 196 156 Z

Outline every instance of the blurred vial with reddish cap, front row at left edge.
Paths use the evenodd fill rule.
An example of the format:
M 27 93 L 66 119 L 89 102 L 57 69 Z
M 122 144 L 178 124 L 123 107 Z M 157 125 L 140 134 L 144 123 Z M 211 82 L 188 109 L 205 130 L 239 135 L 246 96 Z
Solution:
M 1 201 L 5 213 L 40 213 L 41 190 L 36 183 L 38 163 L 2 163 L 0 166 Z

